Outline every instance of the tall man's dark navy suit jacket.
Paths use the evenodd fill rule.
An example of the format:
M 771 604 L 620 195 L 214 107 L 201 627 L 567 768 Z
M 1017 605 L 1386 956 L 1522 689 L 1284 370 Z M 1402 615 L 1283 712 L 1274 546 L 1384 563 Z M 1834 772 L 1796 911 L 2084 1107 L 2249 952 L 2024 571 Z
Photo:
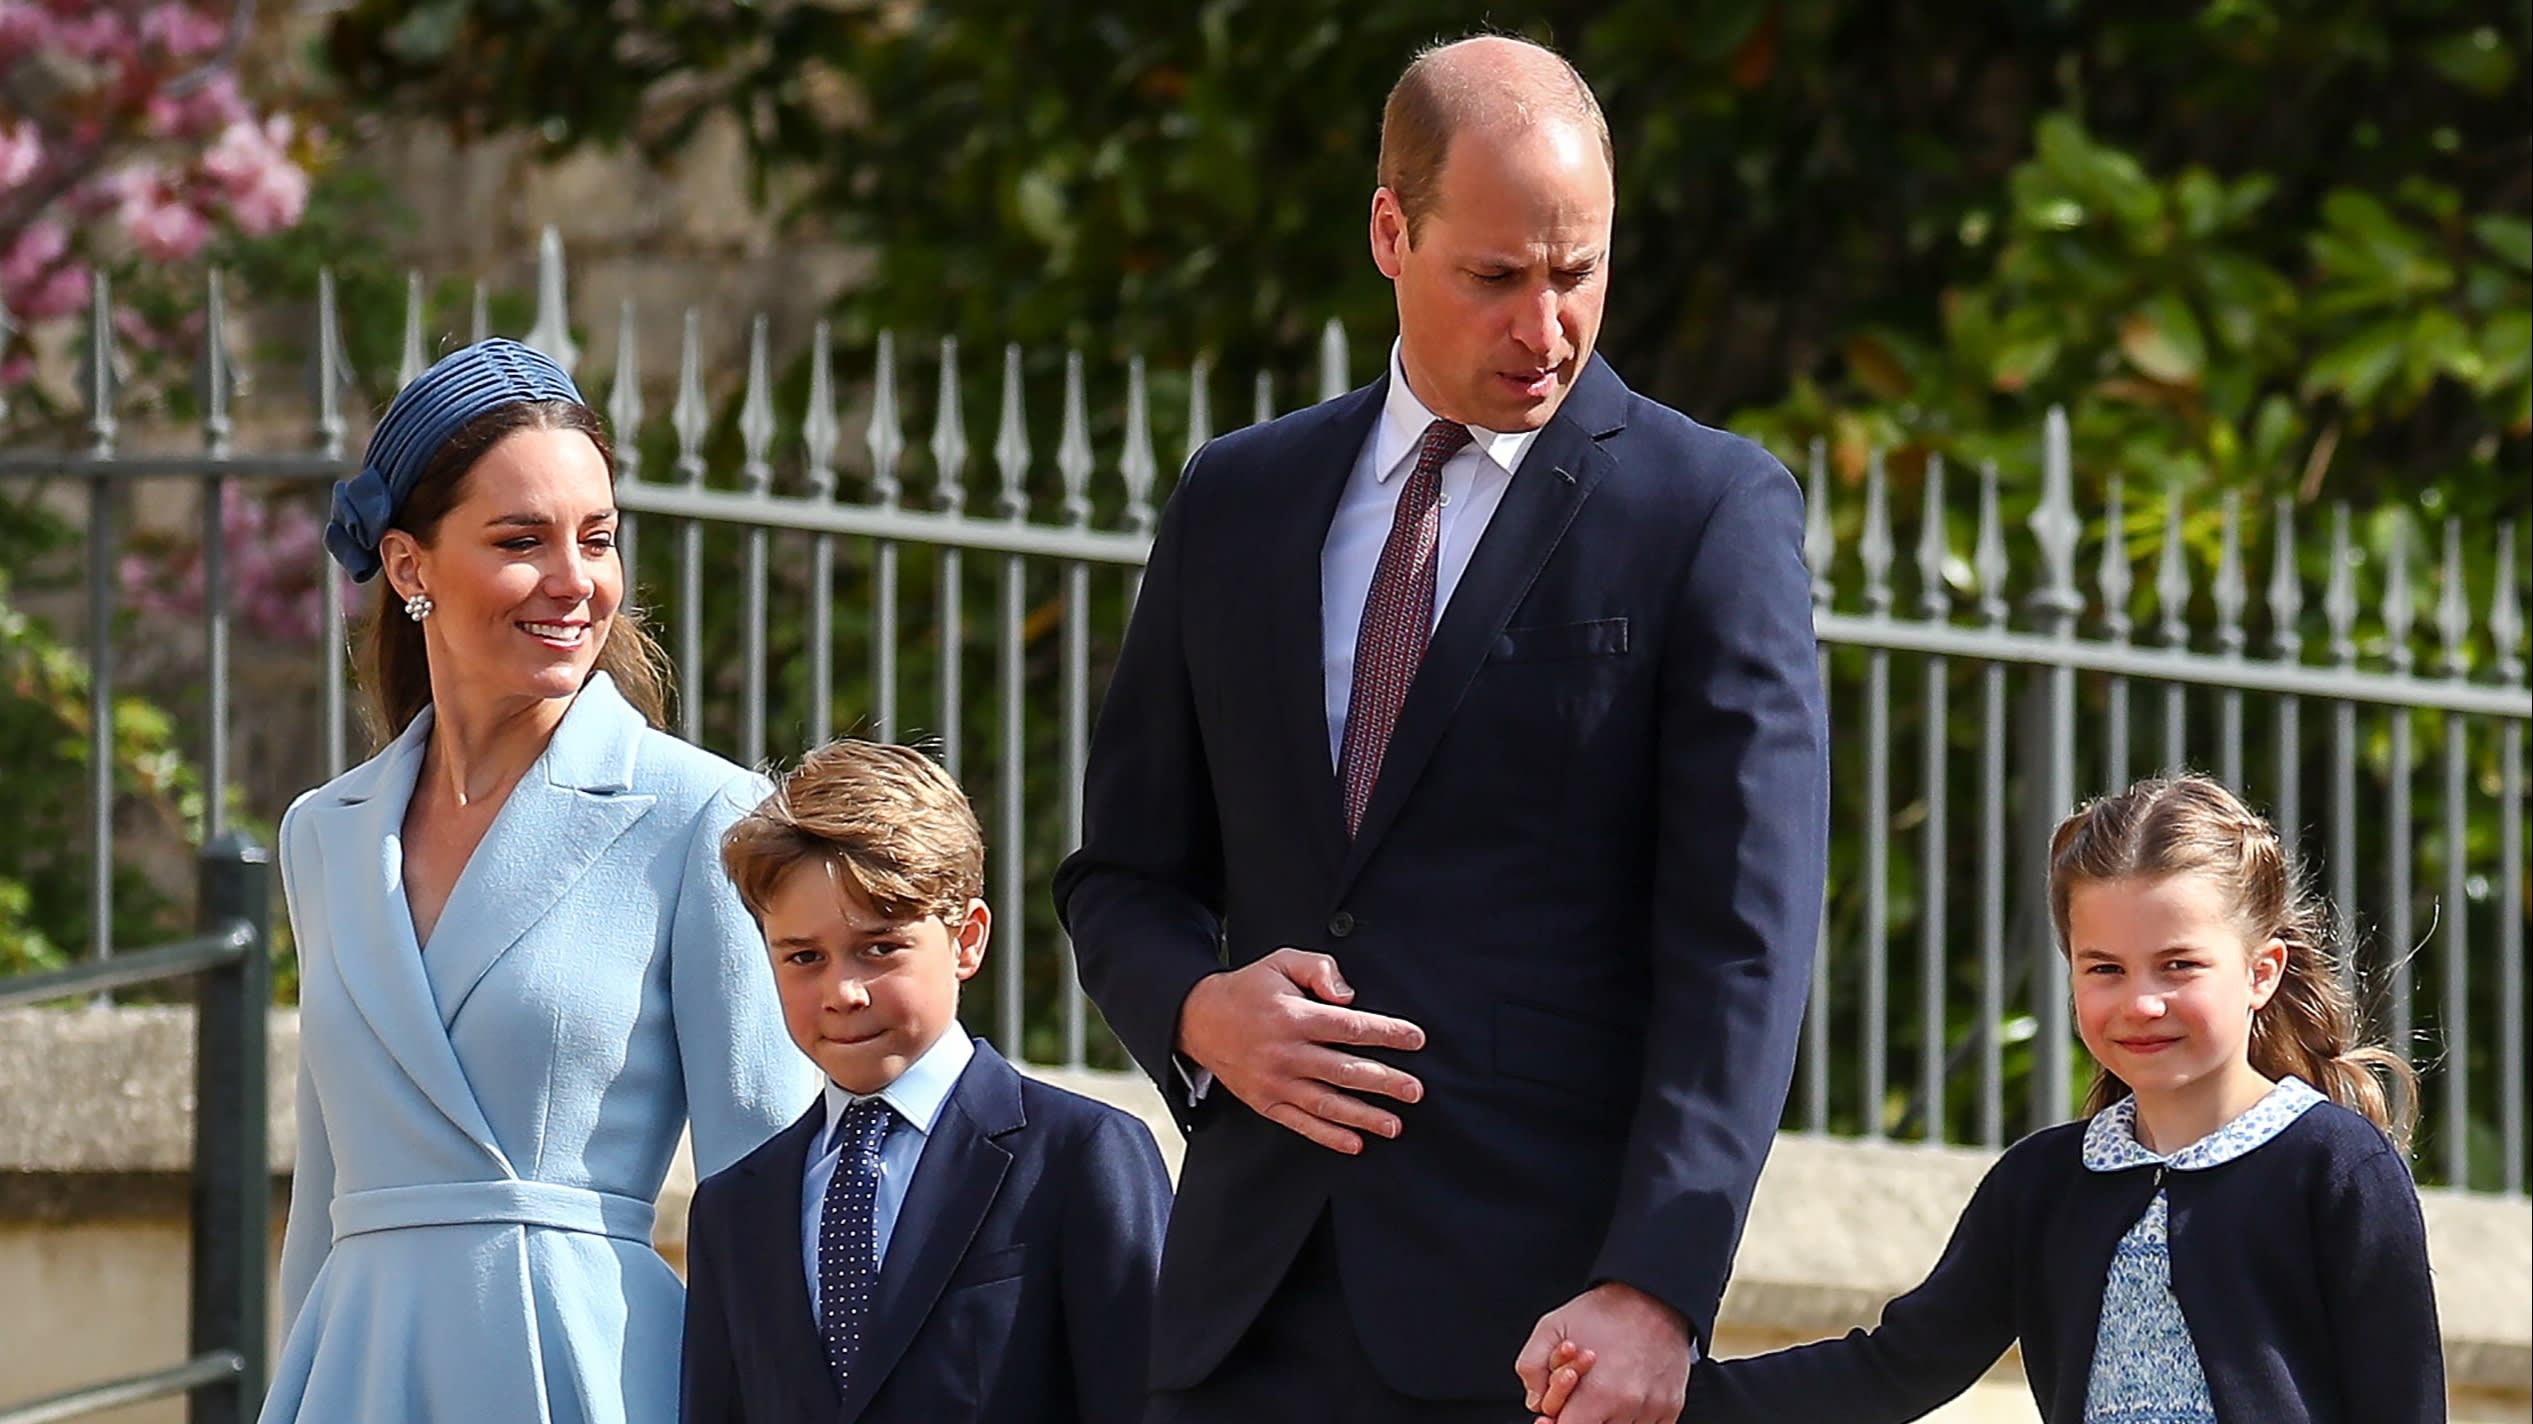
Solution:
M 1603 1280 L 1705 1340 L 1793 1074 L 1829 823 L 1803 502 L 1593 357 L 1487 524 L 1348 841 L 1320 547 L 1388 383 L 1221 436 L 1163 512 L 1056 874 L 1082 978 L 1188 1155 L 1155 1386 L 1231 1351 L 1330 1216 L 1373 1366 L 1517 1394 Z M 1173 1067 L 1198 978 L 1279 945 L 1424 1026 L 1355 1158 Z M 1218 958 L 1226 955 L 1226 958 Z

